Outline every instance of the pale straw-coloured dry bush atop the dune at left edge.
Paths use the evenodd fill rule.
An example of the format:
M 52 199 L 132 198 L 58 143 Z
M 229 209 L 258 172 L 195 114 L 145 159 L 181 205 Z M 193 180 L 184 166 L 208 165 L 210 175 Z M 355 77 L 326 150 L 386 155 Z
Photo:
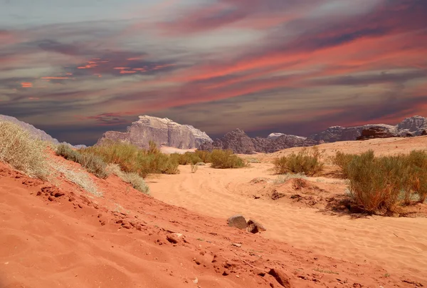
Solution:
M 0 122 L 0 161 L 30 177 L 46 179 L 48 175 L 46 143 L 8 121 Z

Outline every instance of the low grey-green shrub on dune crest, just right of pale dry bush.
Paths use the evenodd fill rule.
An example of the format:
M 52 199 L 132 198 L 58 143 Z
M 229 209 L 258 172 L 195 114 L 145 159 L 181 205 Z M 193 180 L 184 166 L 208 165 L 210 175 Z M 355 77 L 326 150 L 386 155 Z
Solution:
M 105 179 L 108 176 L 108 173 L 105 170 L 107 163 L 93 153 L 81 154 L 80 152 L 73 150 L 70 145 L 59 144 L 56 148 L 56 155 L 60 155 L 67 160 L 79 163 L 82 167 L 86 168 L 86 170 L 98 178 Z

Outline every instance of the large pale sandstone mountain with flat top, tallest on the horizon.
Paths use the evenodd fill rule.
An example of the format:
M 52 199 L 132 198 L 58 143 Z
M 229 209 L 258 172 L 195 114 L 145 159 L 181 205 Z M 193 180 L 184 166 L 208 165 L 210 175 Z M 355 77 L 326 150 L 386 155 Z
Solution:
M 127 127 L 126 132 L 105 132 L 97 144 L 105 140 L 128 141 L 140 148 L 148 148 L 149 141 L 152 140 L 158 146 L 166 145 L 180 149 L 199 148 L 201 143 L 212 142 L 206 133 L 191 125 L 181 125 L 168 118 L 149 115 L 139 116 L 139 120 Z

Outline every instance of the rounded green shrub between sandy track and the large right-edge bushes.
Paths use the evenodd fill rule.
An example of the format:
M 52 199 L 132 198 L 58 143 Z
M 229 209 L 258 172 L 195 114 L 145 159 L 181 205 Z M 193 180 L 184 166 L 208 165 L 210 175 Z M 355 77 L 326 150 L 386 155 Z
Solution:
M 320 161 L 320 151 L 317 147 L 311 150 L 302 149 L 299 153 L 292 153 L 275 159 L 275 172 L 278 174 L 303 173 L 308 176 L 320 173 L 324 164 Z

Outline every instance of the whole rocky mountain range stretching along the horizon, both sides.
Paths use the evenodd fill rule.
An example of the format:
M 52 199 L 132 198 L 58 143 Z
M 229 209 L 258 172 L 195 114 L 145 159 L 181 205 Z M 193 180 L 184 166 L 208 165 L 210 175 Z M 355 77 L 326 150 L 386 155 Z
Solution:
M 0 120 L 11 121 L 28 130 L 35 138 L 58 144 L 43 130 L 22 122 L 14 117 L 0 115 Z M 231 149 L 235 153 L 273 153 L 292 147 L 304 147 L 321 143 L 332 143 L 346 140 L 364 140 L 369 138 L 413 137 L 427 135 L 427 118 L 415 115 L 406 118 L 396 125 L 367 124 L 354 127 L 332 126 L 320 133 L 308 137 L 271 133 L 267 138 L 250 138 L 241 129 L 226 133 L 222 138 L 212 140 L 209 135 L 191 125 L 181 125 L 168 118 L 156 118 L 149 115 L 139 116 L 126 132 L 107 131 L 97 141 L 122 140 L 147 148 L 149 140 L 157 145 L 166 145 L 181 149 L 198 148 L 200 150 Z M 75 145 L 82 148 L 85 145 Z

